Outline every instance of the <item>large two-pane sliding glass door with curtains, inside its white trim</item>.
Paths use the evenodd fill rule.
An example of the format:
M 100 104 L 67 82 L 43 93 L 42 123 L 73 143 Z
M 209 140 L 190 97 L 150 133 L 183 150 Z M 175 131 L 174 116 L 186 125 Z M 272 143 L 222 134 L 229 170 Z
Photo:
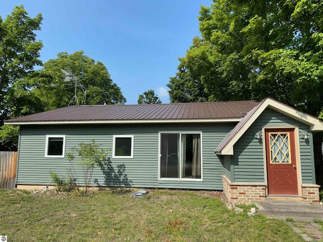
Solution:
M 202 133 L 160 133 L 159 178 L 202 179 Z

